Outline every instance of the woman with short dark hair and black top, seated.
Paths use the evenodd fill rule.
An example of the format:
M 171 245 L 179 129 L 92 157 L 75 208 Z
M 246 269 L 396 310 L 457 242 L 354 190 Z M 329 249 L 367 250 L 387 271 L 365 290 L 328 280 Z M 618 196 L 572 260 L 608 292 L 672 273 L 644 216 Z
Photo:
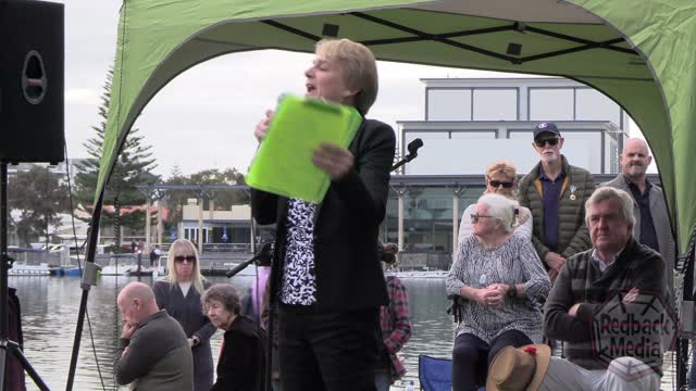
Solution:
M 203 293 L 201 304 L 210 321 L 225 331 L 211 391 L 263 391 L 265 335 L 250 317 L 239 314 L 237 290 L 215 283 Z

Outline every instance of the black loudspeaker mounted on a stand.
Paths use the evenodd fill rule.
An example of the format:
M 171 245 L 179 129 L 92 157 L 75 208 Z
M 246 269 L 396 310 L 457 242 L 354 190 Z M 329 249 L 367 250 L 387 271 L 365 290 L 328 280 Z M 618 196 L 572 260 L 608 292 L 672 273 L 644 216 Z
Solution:
M 0 161 L 64 160 L 63 4 L 0 0 Z

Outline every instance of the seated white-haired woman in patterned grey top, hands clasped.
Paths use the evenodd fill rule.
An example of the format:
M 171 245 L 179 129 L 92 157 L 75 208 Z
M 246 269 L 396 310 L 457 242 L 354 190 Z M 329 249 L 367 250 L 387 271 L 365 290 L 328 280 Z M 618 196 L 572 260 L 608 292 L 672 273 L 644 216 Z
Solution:
M 515 203 L 484 194 L 471 214 L 473 236 L 460 243 L 447 276 L 461 317 L 452 351 L 455 391 L 483 386 L 488 365 L 505 346 L 542 341 L 539 301 L 551 282 L 532 242 L 514 234 Z

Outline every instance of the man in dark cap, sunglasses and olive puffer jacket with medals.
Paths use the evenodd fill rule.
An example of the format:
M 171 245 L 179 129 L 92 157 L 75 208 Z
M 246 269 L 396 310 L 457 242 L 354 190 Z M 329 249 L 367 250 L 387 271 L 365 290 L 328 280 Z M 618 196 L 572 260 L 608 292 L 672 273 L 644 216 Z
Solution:
M 595 188 L 594 179 L 588 171 L 568 163 L 561 154 L 563 141 L 554 123 L 534 128 L 532 147 L 540 161 L 518 190 L 520 205 L 532 211 L 532 242 L 551 280 L 569 256 L 591 247 L 583 205 Z

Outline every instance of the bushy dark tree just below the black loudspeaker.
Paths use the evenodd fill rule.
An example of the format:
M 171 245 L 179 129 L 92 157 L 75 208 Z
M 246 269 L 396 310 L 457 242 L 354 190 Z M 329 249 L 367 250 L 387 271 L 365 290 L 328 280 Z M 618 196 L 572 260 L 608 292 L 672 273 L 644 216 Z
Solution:
M 61 175 L 40 165 L 32 165 L 29 171 L 17 172 L 9 178 L 8 206 L 20 212 L 18 218 L 12 222 L 20 245 L 40 237 L 46 237 L 48 243 L 49 227 L 59 226 L 59 214 L 70 210 L 69 189 L 60 178 Z

